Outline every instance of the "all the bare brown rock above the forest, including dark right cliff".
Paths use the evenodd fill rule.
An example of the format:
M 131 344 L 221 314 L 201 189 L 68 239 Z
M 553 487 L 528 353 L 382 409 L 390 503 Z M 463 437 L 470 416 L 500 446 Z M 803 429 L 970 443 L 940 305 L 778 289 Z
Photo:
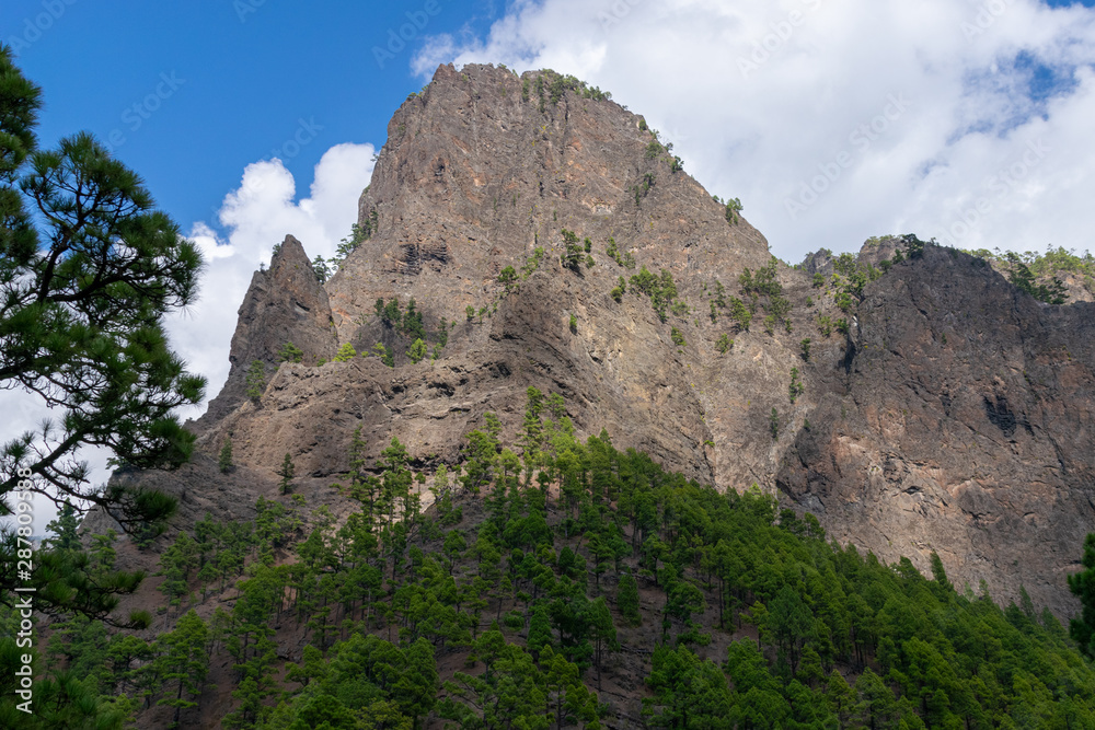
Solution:
M 203 459 L 231 437 L 256 490 L 290 453 L 298 491 L 334 499 L 358 427 L 371 456 L 397 437 L 417 470 L 457 463 L 485 412 L 512 440 L 537 386 L 565 397 L 580 436 L 604 428 L 698 480 L 779 491 L 884 559 L 926 570 L 935 551 L 958 586 L 1006 599 L 1025 584 L 1072 612 L 1064 573 L 1095 526 L 1095 305 L 1039 304 L 929 246 L 849 315 L 812 286 L 826 256 L 780 264 L 791 311 L 762 325 L 761 299 L 745 331 L 723 304 L 749 300 L 738 280 L 770 264 L 763 236 L 641 116 L 550 72 L 438 68 L 392 118 L 359 225 L 368 237 L 323 286 L 291 236 L 255 275 L 232 373 L 194 427 Z M 589 240 L 568 266 L 564 229 Z M 671 278 L 676 306 L 636 291 L 644 267 Z M 395 298 L 414 301 L 433 357 L 412 362 L 412 337 L 378 310 Z M 846 335 L 819 327 L 844 316 Z M 287 341 L 302 362 L 278 362 Z M 347 343 L 362 355 L 331 362 Z M 394 368 L 367 357 L 378 343 Z M 268 382 L 250 399 L 254 360 Z

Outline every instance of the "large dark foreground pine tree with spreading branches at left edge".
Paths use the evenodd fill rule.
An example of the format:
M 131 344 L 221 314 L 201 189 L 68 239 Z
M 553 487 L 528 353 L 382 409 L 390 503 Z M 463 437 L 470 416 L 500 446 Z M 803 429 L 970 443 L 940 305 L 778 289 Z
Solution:
M 89 488 L 76 453 L 94 443 L 135 468 L 175 467 L 189 457 L 194 436 L 171 414 L 199 403 L 205 381 L 171 351 L 163 323 L 194 301 L 200 252 L 155 208 L 140 177 L 91 135 L 37 149 L 42 92 L 5 46 L 0 88 L 0 390 L 36 393 L 62 415 L 0 445 L 0 515 L 10 513 L 7 495 L 19 487 L 107 508 L 127 531 L 162 522 L 174 499 L 138 497 L 120 485 Z M 0 557 L 14 566 L 3 544 Z M 54 559 L 69 563 L 34 575 L 83 580 L 70 557 Z M 10 571 L 0 592 L 16 584 Z M 71 599 L 56 607 L 103 615 L 114 598 L 39 590 L 36 600 L 45 609 Z

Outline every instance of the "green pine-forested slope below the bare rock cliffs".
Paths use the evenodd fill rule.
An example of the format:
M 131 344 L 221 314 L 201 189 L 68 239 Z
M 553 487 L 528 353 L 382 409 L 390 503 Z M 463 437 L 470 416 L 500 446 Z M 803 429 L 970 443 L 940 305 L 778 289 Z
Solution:
M 367 463 L 355 439 L 341 524 L 287 494 L 178 532 L 160 558 L 174 628 L 54 625 L 50 665 L 82 699 L 44 727 L 118 727 L 112 707 L 140 727 L 1095 727 L 1095 671 L 1048 611 L 938 560 L 931 580 L 883 565 L 603 431 L 580 442 L 564 414 L 530 389 L 519 443 L 485 414 L 451 472 L 397 441 Z M 74 719 L 95 696 L 97 720 Z

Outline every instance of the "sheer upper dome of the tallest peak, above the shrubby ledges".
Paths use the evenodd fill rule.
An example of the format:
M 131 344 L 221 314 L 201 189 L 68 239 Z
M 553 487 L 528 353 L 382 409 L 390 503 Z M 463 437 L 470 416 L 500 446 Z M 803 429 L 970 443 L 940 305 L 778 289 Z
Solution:
M 370 239 L 327 287 L 343 340 L 378 297 L 461 318 L 506 266 L 537 247 L 557 256 L 563 229 L 598 248 L 612 237 L 675 276 L 729 277 L 769 258 L 643 117 L 573 77 L 493 66 L 440 66 L 400 107 L 358 223 Z

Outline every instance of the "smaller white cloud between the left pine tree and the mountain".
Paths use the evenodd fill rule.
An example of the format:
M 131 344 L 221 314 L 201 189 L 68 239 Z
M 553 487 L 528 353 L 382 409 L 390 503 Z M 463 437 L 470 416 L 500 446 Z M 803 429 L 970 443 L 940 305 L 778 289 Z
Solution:
M 357 200 L 372 176 L 372 144 L 337 144 L 315 165 L 310 197 L 296 200 L 296 181 L 278 159 L 255 162 L 243 171 L 240 187 L 224 197 L 219 218 L 222 240 L 204 221 L 188 237 L 206 256 L 198 301 L 169 320 L 172 346 L 192 372 L 205 375 L 207 397 L 228 378 L 228 351 L 235 317 L 252 275 L 267 265 L 274 244 L 292 234 L 308 255 L 328 258 L 357 221 Z M 196 417 L 205 404 L 185 413 Z

